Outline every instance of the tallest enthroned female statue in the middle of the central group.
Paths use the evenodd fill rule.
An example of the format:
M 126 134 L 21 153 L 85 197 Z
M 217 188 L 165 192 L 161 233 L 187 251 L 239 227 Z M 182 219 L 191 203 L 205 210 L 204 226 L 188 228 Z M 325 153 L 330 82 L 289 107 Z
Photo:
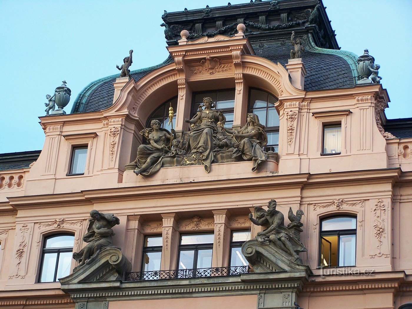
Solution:
M 199 110 L 192 119 L 185 119 L 190 124 L 198 124 L 189 133 L 186 153 L 199 153 L 206 172 L 210 171 L 213 160 L 213 135 L 218 132 L 217 124 L 223 126 L 225 115 L 220 110 L 213 110 L 214 103 L 209 97 L 203 99 L 204 109 Z

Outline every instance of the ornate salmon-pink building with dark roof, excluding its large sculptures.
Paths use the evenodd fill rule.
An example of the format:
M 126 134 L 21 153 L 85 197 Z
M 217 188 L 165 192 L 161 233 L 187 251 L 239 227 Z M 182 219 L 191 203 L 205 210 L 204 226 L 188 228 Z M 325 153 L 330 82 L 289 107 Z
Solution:
M 72 113 L 40 117 L 40 154 L 0 157 L 1 307 L 383 309 L 412 302 L 411 122 L 386 119 L 382 84 L 359 83 L 357 57 L 340 51 L 334 36 L 317 37 L 330 23 L 316 3 L 207 7 L 188 11 L 186 28 L 176 26 L 183 12 L 165 13 L 165 63 L 131 71 L 131 79 L 94 82 Z M 225 30 L 213 33 L 211 23 Z M 292 30 L 304 43 L 302 58 L 274 60 L 272 45 L 287 43 L 290 53 Z M 316 66 L 314 57 L 321 57 Z M 332 78 L 332 71 L 314 75 L 328 61 L 344 61 L 347 85 L 316 86 Z M 98 91 L 106 102 L 92 98 Z M 259 115 L 269 155 L 256 171 L 248 160 L 212 162 L 208 173 L 201 164 L 150 176 L 127 169 L 147 143 L 139 132 L 167 118 L 164 106 L 167 112 L 174 100 L 173 128 L 184 139 L 185 119 L 204 93 L 223 106 L 230 129 Z M 259 272 L 240 251 L 263 230 L 249 214 L 271 199 L 285 216 L 290 208 L 304 213 L 306 273 Z M 96 262 L 84 277 L 81 268 L 70 275 L 93 209 L 119 218 L 113 243 L 131 264 L 122 278 L 105 276 L 110 257 L 110 267 Z M 185 235 L 197 240 L 185 243 Z M 187 269 L 209 270 L 179 275 Z

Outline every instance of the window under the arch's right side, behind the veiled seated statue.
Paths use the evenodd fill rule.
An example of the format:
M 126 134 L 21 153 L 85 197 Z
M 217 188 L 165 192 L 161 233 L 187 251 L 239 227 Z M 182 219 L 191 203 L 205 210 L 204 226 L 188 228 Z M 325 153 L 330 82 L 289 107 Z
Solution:
M 258 115 L 259 122 L 266 127 L 266 151 L 279 150 L 279 115 L 275 108 L 277 101 L 278 99 L 269 92 L 249 88 L 248 112 Z

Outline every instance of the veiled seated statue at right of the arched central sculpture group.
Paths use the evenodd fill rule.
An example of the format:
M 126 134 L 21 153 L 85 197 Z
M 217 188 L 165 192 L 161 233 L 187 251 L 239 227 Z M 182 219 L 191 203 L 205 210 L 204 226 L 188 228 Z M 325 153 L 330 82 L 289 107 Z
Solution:
M 224 130 L 233 135 L 233 157 L 242 155 L 246 161 L 253 161 L 252 172 L 256 171 L 258 165 L 267 159 L 267 153 L 263 151 L 267 144 L 267 134 L 258 115 L 248 113 L 246 125 L 239 132 L 226 128 Z

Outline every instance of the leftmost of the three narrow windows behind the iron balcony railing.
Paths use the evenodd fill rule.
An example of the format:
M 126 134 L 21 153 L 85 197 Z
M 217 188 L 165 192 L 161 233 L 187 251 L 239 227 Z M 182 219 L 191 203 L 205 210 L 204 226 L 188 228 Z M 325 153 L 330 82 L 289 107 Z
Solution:
M 146 236 L 143 246 L 142 272 L 160 270 L 162 259 L 162 236 Z

